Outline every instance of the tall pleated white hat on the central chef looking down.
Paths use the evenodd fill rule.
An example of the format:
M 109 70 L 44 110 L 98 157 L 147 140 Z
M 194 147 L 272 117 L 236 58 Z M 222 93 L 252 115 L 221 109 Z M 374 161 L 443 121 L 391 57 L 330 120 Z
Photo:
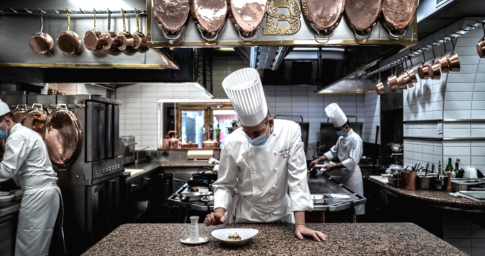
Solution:
M 265 119 L 266 98 L 256 69 L 243 68 L 234 71 L 224 78 L 222 88 L 238 112 L 242 125 L 252 127 Z

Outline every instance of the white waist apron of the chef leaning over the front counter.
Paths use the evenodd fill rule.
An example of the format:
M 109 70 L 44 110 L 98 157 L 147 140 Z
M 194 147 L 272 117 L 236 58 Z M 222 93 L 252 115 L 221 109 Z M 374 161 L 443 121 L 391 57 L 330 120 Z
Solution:
M 245 207 L 243 205 L 244 203 L 249 208 Z M 226 219 L 228 223 L 294 223 L 294 215 L 289 209 L 290 198 L 288 195 L 275 203 L 261 205 L 249 201 L 244 196 L 235 194 L 232 196 L 231 207 L 229 208 L 229 212 L 227 212 Z M 272 216 L 272 214 L 277 214 L 280 217 Z

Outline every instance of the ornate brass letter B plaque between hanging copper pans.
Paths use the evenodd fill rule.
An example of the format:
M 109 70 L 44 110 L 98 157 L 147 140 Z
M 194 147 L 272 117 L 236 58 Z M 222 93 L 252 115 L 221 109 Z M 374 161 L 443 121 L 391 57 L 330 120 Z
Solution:
M 278 8 L 288 8 L 290 12 L 281 14 Z M 300 5 L 295 0 L 269 0 L 267 1 L 266 26 L 263 28 L 263 35 L 293 35 L 300 30 Z M 286 27 L 279 27 L 278 21 L 288 21 Z

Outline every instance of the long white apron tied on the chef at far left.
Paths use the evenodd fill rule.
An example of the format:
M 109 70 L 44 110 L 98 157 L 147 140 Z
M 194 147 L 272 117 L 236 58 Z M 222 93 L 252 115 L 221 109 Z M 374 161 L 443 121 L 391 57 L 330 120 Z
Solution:
M 20 180 L 24 196 L 17 224 L 15 255 L 48 255 L 56 221 L 59 226 L 58 235 L 64 246 L 64 206 L 57 180 L 58 178 L 45 176 Z M 65 250 L 64 246 L 64 253 Z

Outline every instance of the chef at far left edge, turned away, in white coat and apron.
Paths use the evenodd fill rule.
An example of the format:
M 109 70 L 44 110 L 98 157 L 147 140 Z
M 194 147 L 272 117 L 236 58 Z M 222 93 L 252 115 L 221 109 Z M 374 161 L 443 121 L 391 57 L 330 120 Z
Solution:
M 8 105 L 1 100 L 0 138 L 6 138 L 0 182 L 12 178 L 24 193 L 15 255 L 48 255 L 62 199 L 46 145 L 35 131 L 15 122 Z

